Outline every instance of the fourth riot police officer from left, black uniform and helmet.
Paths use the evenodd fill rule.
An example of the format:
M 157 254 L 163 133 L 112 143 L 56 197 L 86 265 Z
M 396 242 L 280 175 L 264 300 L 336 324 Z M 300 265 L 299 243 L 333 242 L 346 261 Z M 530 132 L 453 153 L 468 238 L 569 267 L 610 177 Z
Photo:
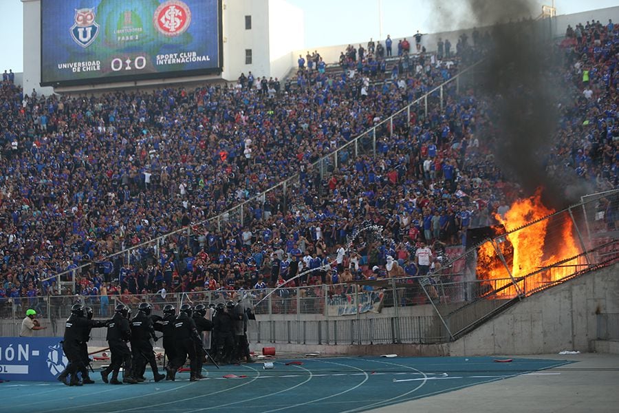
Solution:
M 133 371 L 132 376 L 137 381 L 144 381 L 142 372 L 146 368 L 146 363 L 151 365 L 153 377 L 155 381 L 165 379 L 165 374 L 159 374 L 157 361 L 153 353 L 153 345 L 151 338 L 154 341 L 158 340 L 153 327 L 153 319 L 151 312 L 153 307 L 149 303 L 141 303 L 138 306 L 138 314 L 131 319 L 131 355 L 133 356 Z

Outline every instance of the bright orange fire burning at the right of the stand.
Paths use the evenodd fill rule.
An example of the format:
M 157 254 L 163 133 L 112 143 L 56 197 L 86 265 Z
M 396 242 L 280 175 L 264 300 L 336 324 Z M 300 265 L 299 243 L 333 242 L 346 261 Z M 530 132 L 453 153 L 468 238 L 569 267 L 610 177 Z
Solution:
M 578 258 L 563 262 L 582 252 L 574 224 L 567 213 L 543 219 L 554 213 L 541 202 L 538 190 L 531 198 L 514 202 L 504 219 L 495 215 L 507 234 L 497 233 L 494 242 L 486 242 L 477 253 L 477 278 L 488 280 L 486 288 L 499 297 L 514 297 L 519 292 L 529 295 L 576 271 Z M 553 266 L 558 262 L 563 263 Z M 535 274 L 517 282 L 518 291 L 507 268 L 514 279 Z

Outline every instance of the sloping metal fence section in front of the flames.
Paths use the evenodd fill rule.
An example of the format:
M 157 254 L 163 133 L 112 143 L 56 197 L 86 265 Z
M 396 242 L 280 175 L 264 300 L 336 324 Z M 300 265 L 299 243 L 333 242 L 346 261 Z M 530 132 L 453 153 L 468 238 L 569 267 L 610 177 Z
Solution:
M 612 217 L 619 216 L 619 190 L 604 194 L 604 207 L 600 207 L 600 196 L 583 199 L 563 211 L 488 238 L 446 265 L 451 268 L 448 271 L 461 273 L 464 281 L 481 280 L 481 288 L 485 289 L 472 299 L 468 297 L 475 297 L 475 293 L 464 290 L 467 299 L 455 308 L 440 306 L 439 299 L 432 299 L 453 339 L 529 295 L 618 262 L 616 222 L 600 223 L 601 215 L 596 211 L 606 208 Z M 535 260 L 522 266 L 523 260 L 512 247 L 526 237 L 532 244 L 520 241 L 519 254 Z M 487 260 L 488 256 L 492 260 Z M 455 271 L 455 266 L 463 270 Z

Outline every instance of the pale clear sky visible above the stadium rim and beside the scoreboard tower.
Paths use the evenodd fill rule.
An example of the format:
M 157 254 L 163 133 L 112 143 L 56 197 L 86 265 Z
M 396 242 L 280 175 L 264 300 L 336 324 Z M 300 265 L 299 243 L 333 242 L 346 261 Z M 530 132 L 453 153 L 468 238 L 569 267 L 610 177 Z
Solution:
M 62 1 L 62 0 L 57 0 Z M 234 1 L 234 0 L 224 0 Z M 435 3 L 438 0 L 435 0 Z M 494 0 L 509 1 L 509 0 Z M 550 5 L 552 0 L 536 0 Z M 305 17 L 304 47 L 359 43 L 370 37 L 384 39 L 387 34 L 398 38 L 436 30 L 429 21 L 428 0 L 287 0 L 301 8 Z M 457 8 L 461 0 L 444 0 L 449 8 Z M 555 0 L 557 14 L 571 14 L 617 6 L 617 0 Z M 380 6 L 380 7 L 379 7 Z M 23 12 L 21 0 L 0 0 L 0 72 L 23 67 Z M 380 8 L 380 12 L 379 12 Z M 380 17 L 380 18 L 379 18 Z M 382 24 L 381 24 L 382 22 Z M 382 28 L 382 30 L 381 30 Z

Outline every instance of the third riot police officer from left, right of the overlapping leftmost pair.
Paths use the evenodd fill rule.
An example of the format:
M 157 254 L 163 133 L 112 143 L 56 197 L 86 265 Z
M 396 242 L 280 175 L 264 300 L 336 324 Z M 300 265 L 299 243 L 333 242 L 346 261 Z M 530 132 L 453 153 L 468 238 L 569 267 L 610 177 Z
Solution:
M 108 383 L 107 376 L 111 372 L 110 384 L 138 383 L 131 377 L 131 350 L 127 341 L 131 339 L 131 326 L 129 325 L 129 308 L 124 304 L 118 304 L 114 317 L 107 326 L 107 343 L 111 352 L 110 365 L 101 372 L 101 379 Z M 120 366 L 124 365 L 124 379 L 118 380 Z

